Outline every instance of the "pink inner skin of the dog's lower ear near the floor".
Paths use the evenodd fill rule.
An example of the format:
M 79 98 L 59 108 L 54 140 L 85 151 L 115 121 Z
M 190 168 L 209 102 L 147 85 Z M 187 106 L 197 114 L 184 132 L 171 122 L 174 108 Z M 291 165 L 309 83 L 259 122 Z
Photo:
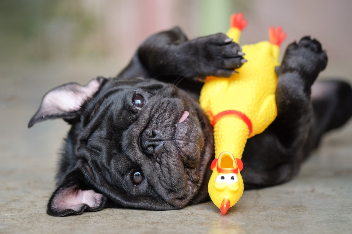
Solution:
M 102 197 L 102 194 L 96 193 L 93 189 L 82 190 L 78 186 L 73 186 L 59 190 L 51 202 L 51 208 L 57 211 L 72 209 L 78 212 L 86 204 L 94 209 L 100 206 Z

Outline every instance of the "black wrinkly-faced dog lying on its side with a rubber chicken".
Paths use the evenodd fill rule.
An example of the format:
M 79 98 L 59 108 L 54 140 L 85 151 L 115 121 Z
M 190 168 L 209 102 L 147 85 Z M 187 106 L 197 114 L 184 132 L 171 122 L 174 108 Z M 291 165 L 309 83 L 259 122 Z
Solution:
M 117 77 L 49 91 L 29 127 L 55 118 L 72 127 L 48 214 L 104 207 L 168 210 L 207 201 L 214 141 L 199 107 L 198 80 L 230 76 L 245 61 L 240 51 L 225 34 L 188 41 L 174 28 L 147 39 Z M 348 84 L 313 85 L 326 63 L 316 40 L 304 37 L 288 46 L 276 69 L 277 118 L 246 144 L 245 189 L 290 180 L 322 134 L 350 118 Z M 186 110 L 188 118 L 181 119 Z

